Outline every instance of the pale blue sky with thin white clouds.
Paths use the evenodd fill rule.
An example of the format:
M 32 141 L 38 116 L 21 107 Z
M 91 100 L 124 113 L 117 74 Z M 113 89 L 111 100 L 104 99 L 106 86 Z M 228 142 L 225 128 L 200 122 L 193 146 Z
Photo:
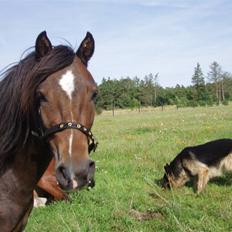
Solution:
M 121 78 L 159 72 L 162 86 L 191 84 L 199 62 L 232 72 L 231 0 L 0 0 L 0 69 L 46 30 L 54 45 L 96 40 L 89 70 Z

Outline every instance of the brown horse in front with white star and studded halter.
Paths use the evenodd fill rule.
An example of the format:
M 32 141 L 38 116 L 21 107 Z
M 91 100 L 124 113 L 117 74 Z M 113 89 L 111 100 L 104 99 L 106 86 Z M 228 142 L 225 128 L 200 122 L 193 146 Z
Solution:
M 64 189 L 92 185 L 96 148 L 90 129 L 97 87 L 87 70 L 90 33 L 77 52 L 51 45 L 46 32 L 35 51 L 2 74 L 0 82 L 0 230 L 22 231 L 33 189 L 52 159 Z

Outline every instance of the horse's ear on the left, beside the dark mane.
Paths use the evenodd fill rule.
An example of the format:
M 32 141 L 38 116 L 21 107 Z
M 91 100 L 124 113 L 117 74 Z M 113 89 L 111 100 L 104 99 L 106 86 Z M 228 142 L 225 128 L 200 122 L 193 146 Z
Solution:
M 36 58 L 42 58 L 52 50 L 52 44 L 47 37 L 46 31 L 41 32 L 35 42 Z

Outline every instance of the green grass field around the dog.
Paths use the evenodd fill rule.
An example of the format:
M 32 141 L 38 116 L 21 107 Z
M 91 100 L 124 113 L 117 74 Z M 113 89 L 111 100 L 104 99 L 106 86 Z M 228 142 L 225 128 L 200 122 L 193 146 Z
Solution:
M 193 189 L 162 190 L 163 166 L 185 146 L 232 137 L 232 106 L 103 112 L 94 189 L 34 209 L 26 231 L 232 231 L 232 175 Z

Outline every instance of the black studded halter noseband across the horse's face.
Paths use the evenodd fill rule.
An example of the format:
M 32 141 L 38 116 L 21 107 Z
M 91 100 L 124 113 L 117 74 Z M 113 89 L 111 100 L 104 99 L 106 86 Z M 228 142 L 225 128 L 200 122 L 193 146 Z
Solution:
M 48 137 L 52 136 L 53 134 L 57 133 L 57 132 L 61 132 L 63 130 L 66 129 L 76 129 L 81 131 L 82 133 L 84 133 L 87 138 L 88 138 L 88 145 L 89 145 L 89 153 L 91 151 L 95 151 L 97 149 L 97 145 L 98 145 L 98 141 L 97 139 L 94 137 L 93 133 L 86 128 L 85 126 L 81 125 L 80 123 L 76 123 L 76 122 L 62 122 L 59 123 L 51 128 L 46 129 L 45 131 L 41 130 L 41 135 L 39 135 L 37 132 L 32 131 L 32 135 L 39 137 L 41 139 L 47 139 Z

